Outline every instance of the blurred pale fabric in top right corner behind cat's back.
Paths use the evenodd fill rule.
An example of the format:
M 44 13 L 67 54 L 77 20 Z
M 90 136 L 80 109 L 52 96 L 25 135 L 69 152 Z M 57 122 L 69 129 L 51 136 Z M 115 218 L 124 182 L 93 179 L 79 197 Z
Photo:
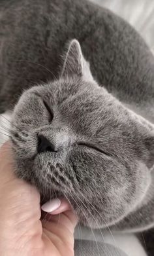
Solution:
M 153 0 L 90 0 L 127 20 L 144 37 L 154 52 Z

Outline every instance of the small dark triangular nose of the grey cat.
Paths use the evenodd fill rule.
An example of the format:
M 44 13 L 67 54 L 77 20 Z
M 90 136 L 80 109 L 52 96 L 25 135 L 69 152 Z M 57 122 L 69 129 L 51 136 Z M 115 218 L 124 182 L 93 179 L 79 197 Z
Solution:
M 56 147 L 54 144 L 52 144 L 46 137 L 42 135 L 38 135 L 38 147 L 37 147 L 37 152 L 42 153 L 42 152 L 47 152 L 47 151 L 52 151 L 55 152 Z

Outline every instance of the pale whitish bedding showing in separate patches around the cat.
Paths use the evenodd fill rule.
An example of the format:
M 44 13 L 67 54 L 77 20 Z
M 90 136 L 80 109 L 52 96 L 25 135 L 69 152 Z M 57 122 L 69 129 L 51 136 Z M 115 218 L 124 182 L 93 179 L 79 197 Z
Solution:
M 113 10 L 119 16 L 125 18 L 137 31 L 144 37 L 147 45 L 154 50 L 154 1 L 152 0 L 91 0 L 99 3 L 110 10 Z M 0 116 L 0 145 L 3 143 L 8 134 L 10 114 L 6 113 L 5 117 Z M 1 128 L 3 127 L 3 128 Z M 100 235 L 95 234 L 98 240 L 102 240 Z M 78 236 L 78 234 L 76 234 Z M 86 232 L 83 232 L 82 237 L 86 238 Z M 116 244 L 121 247 L 129 256 L 145 256 L 146 253 L 140 246 L 134 235 L 114 234 L 115 241 L 110 235 L 110 232 L 104 233 L 104 240 L 111 244 Z M 88 238 L 90 236 L 88 235 Z M 91 236 L 91 240 L 94 238 Z

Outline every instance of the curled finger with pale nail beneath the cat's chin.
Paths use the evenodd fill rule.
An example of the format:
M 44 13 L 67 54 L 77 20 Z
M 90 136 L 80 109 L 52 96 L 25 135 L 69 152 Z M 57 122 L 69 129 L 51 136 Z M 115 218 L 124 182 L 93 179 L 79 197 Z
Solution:
M 59 249 L 59 255 L 74 255 L 74 229 L 77 224 L 76 214 L 70 207 L 70 204 L 61 199 L 61 205 L 53 212 L 50 211 L 52 201 L 46 204 L 48 206 L 44 220 L 42 220 L 43 236 L 48 234 L 48 238 L 52 241 L 54 246 Z M 45 210 L 45 207 L 42 206 Z

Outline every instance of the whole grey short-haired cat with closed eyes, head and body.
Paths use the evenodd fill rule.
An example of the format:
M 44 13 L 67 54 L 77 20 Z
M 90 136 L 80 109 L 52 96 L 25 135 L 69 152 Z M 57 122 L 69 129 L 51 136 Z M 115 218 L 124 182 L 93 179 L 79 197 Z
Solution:
M 152 227 L 154 58 L 144 40 L 83 0 L 0 5 L 0 112 L 18 101 L 16 174 L 42 202 L 68 198 L 84 225 Z

